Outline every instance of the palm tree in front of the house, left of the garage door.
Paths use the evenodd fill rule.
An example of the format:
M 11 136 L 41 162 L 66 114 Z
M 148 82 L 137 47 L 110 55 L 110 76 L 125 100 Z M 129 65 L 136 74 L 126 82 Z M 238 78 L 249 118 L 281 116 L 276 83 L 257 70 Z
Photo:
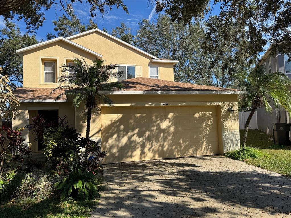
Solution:
M 74 59 L 74 65 L 61 66 L 62 75 L 58 78 L 58 87 L 54 88 L 51 94 L 63 91 L 55 98 L 55 102 L 64 95 L 73 97 L 73 105 L 79 107 L 85 105 L 87 115 L 86 138 L 90 135 L 90 124 L 92 112 L 98 111 L 100 102 L 113 106 L 113 101 L 100 90 L 122 90 L 120 83 L 109 83 L 112 78 L 122 76 L 124 72 L 117 72 L 117 65 L 103 65 L 105 60 L 94 60 L 88 65 L 84 58 Z

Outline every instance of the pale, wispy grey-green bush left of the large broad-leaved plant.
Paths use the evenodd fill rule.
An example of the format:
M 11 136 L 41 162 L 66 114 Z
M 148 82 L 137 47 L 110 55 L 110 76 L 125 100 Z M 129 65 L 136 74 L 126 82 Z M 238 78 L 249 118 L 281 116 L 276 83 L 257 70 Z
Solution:
M 46 199 L 53 190 L 53 178 L 46 174 L 36 175 L 29 173 L 21 182 L 16 192 L 17 201 L 27 198 Z

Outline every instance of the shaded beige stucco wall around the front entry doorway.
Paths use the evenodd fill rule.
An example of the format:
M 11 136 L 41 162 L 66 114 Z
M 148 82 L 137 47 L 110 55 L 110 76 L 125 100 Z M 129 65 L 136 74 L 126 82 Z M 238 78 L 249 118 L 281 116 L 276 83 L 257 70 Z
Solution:
M 74 107 L 72 103 L 21 103 L 18 107 L 19 115 L 12 121 L 12 128 L 23 128 L 29 124 L 29 119 L 36 116 L 37 110 L 58 110 L 58 116 L 67 116 L 68 125 L 75 127 Z M 33 152 L 37 152 L 36 141 L 32 134 L 28 133 L 27 128 L 22 131 L 24 142 L 30 143 Z

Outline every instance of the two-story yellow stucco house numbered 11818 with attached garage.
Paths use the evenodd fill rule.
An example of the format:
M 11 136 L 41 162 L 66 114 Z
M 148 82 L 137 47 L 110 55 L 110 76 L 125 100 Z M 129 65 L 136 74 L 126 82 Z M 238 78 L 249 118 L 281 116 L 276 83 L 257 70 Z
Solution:
M 239 124 L 235 89 L 174 82 L 176 60 L 152 56 L 99 29 L 68 38 L 19 49 L 23 58 L 23 88 L 15 94 L 21 102 L 13 128 L 29 124 L 42 114 L 47 120 L 67 116 L 81 135 L 86 133 L 83 107 L 72 107 L 72 99 L 55 103 L 57 77 L 63 63 L 84 57 L 90 63 L 103 58 L 127 74 L 119 78 L 124 91 L 105 92 L 114 103 L 100 103 L 101 115 L 92 118 L 93 140 L 100 141 L 108 155 L 104 163 L 223 154 L 239 149 Z M 23 136 L 33 152 L 41 144 L 27 130 Z

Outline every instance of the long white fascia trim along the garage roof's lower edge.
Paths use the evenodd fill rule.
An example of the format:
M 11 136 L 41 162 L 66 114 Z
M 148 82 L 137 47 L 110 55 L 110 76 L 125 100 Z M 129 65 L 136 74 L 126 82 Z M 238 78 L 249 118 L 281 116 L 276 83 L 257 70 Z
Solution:
M 247 94 L 247 91 L 100 91 L 103 94 Z

